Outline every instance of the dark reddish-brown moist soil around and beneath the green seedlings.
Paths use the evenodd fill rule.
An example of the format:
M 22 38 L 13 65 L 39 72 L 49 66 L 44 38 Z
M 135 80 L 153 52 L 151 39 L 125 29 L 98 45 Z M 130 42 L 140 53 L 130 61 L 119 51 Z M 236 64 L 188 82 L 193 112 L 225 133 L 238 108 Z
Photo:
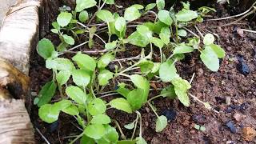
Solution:
M 118 5 L 122 6 L 130 6 L 132 3 L 143 2 L 118 1 Z M 229 15 L 224 7 L 214 7 L 217 13 L 213 14 L 213 18 Z M 117 10 L 117 8 L 110 6 L 110 10 Z M 54 18 L 56 18 L 56 15 Z M 49 18 L 48 22 L 52 22 L 54 18 Z M 150 15 L 149 18 L 154 18 L 154 15 Z M 148 18 L 143 17 L 138 22 L 143 22 L 145 19 Z M 147 105 L 139 110 L 142 114 L 142 135 L 148 143 L 256 143 L 256 138 L 252 141 L 245 141 L 242 134 L 244 127 L 256 129 L 256 36 L 246 32 L 241 33 L 240 28 L 249 28 L 250 21 L 247 20 L 230 26 L 213 28 L 213 26 L 221 26 L 234 20 L 206 21 L 198 24 L 198 29 L 203 35 L 209 31 L 214 33 L 218 38 L 218 41 L 216 41 L 218 45 L 226 50 L 226 58 L 222 59 L 218 72 L 207 70 L 206 66 L 200 61 L 198 53 L 186 55 L 186 58 L 182 62 L 178 62 L 177 65 L 178 74 L 182 78 L 190 80 L 194 74 L 190 94 L 193 94 L 202 102 L 209 102 L 213 110 L 207 110 L 201 103 L 194 101 L 193 98 L 190 98 L 190 107 L 183 106 L 176 99 L 155 99 L 153 104 L 157 108 L 158 114 L 166 115 L 169 121 L 168 126 L 161 133 L 156 133 L 154 130 L 156 116 L 153 111 Z M 47 26 L 44 23 L 42 25 Z M 46 30 L 50 28 L 48 27 Z M 198 34 L 194 27 L 191 27 L 190 30 Z M 55 46 L 58 45 L 57 36 L 47 31 L 44 31 L 44 33 L 44 36 L 50 38 Z M 98 43 L 94 46 L 94 49 L 102 49 L 100 41 Z M 86 48 L 82 50 L 86 50 Z M 140 48 L 136 46 L 127 46 L 126 50 L 126 53 L 118 54 L 118 58 L 128 58 L 140 54 Z M 158 54 L 158 51 L 156 51 L 156 54 Z M 71 56 L 70 54 L 66 55 L 68 58 Z M 154 60 L 158 61 L 158 59 L 156 55 Z M 33 98 L 36 97 L 41 87 L 50 81 L 51 77 L 51 71 L 45 68 L 44 60 L 34 50 L 30 62 Z M 165 86 L 162 83 L 153 82 L 150 85 L 151 88 Z M 108 87 L 108 89 L 113 88 L 113 86 Z M 158 93 L 158 90 L 151 90 L 150 97 Z M 118 95 L 105 100 L 109 101 L 111 98 L 117 97 Z M 58 101 L 58 97 L 54 97 L 52 100 L 52 102 L 56 101 Z M 125 130 L 123 126 L 134 121 L 136 115 L 112 109 L 108 110 L 107 114 L 118 121 L 127 138 L 130 138 L 132 131 Z M 37 106 L 32 106 L 30 115 L 34 127 L 38 129 L 35 131 L 37 143 L 46 143 L 42 135 L 50 143 L 67 143 L 82 132 L 79 130 L 75 118 L 66 114 L 61 114 L 58 122 L 53 124 L 46 124 L 38 118 Z M 206 130 L 196 130 L 194 125 L 204 126 Z

